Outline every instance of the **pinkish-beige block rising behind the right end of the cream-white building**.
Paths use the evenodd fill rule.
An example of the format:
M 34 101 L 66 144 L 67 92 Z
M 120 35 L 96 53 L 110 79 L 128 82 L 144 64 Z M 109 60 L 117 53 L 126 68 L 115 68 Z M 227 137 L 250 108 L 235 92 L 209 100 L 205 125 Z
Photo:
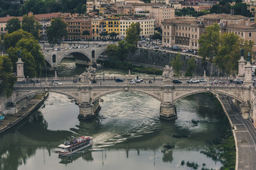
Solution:
M 152 8 L 150 16 L 155 19 L 155 27 L 161 27 L 161 23 L 164 19 L 172 19 L 175 17 L 175 11 L 174 8 Z

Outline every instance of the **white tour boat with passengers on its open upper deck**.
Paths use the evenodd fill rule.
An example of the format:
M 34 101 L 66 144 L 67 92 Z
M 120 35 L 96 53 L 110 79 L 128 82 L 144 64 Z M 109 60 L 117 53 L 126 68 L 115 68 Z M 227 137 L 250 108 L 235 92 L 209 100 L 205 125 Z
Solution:
M 69 142 L 65 142 L 64 144 L 58 145 L 58 155 L 60 157 L 66 157 L 70 154 L 78 152 L 86 147 L 90 147 L 92 145 L 92 137 L 89 136 L 81 136 L 75 138 L 74 140 L 70 140 Z

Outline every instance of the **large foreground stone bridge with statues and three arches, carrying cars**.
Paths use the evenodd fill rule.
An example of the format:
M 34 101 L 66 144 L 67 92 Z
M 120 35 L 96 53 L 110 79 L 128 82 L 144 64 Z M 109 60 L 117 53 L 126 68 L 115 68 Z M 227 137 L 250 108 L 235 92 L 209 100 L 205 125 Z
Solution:
M 100 50 L 99 50 L 100 51 Z M 98 53 L 100 54 L 100 52 Z M 18 81 L 23 81 L 23 62 L 18 60 L 17 77 Z M 106 94 L 116 91 L 139 91 L 156 98 L 161 102 L 160 117 L 166 120 L 176 118 L 176 101 L 193 94 L 210 92 L 213 94 L 223 94 L 235 98 L 240 102 L 241 113 L 244 118 L 247 118 L 249 113 L 252 117 L 255 116 L 256 91 L 252 86 L 252 66 L 250 62 L 246 62 L 243 57 L 238 61 L 238 76 L 244 79 L 243 84 L 210 84 L 209 79 L 207 84 L 173 84 L 174 72 L 172 67 L 166 65 L 163 71 L 163 79 L 156 81 L 154 84 L 129 84 L 127 79 L 122 83 L 107 84 L 91 84 L 90 79 L 95 79 L 96 69 L 93 67 L 87 68 L 87 71 L 80 75 L 80 82 L 74 84 L 73 81 L 63 85 L 57 84 L 16 84 L 14 94 L 11 101 L 14 106 L 18 105 L 23 98 L 28 98 L 39 92 L 56 92 L 65 94 L 78 101 L 80 107 L 79 118 L 93 118 L 100 110 L 100 98 Z M 235 86 L 236 85 L 236 86 Z

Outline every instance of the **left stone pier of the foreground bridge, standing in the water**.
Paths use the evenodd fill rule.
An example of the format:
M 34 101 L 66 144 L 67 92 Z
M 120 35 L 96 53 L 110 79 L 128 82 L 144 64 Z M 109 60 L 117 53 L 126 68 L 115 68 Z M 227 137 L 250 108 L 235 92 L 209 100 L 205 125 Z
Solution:
M 81 120 L 87 120 L 91 118 L 95 118 L 97 113 L 99 113 L 101 107 L 99 104 L 99 99 L 97 99 L 93 103 L 81 103 L 79 105 L 80 113 L 78 115 L 78 118 Z

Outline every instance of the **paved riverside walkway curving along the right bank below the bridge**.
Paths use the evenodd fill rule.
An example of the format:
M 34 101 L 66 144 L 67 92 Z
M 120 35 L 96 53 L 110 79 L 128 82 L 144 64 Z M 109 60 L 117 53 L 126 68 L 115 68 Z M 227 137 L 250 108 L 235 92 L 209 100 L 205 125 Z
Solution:
M 235 137 L 237 156 L 236 169 L 255 170 L 256 169 L 256 130 L 250 120 L 245 120 L 240 114 L 240 110 L 232 101 L 232 98 L 218 95 L 223 104 L 226 114 L 228 114 L 233 135 Z

